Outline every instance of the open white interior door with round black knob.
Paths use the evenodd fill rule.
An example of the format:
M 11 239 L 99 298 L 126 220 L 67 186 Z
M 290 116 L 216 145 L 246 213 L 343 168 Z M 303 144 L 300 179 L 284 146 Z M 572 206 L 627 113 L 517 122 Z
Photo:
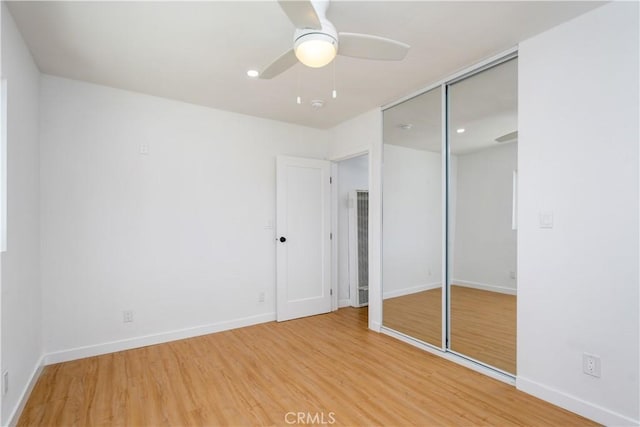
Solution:
M 277 320 L 331 311 L 330 168 L 277 158 Z

